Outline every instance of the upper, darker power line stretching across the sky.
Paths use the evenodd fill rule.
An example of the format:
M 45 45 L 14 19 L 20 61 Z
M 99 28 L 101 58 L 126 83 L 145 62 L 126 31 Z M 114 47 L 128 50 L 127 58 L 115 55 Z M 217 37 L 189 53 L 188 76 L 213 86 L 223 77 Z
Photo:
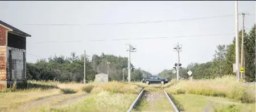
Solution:
M 241 14 L 239 14 L 241 15 Z M 251 14 L 255 15 L 255 14 Z M 127 22 L 127 23 L 100 23 L 100 24 L 84 24 L 84 25 L 119 25 L 119 24 L 145 24 L 145 23 L 162 23 L 170 21 L 183 21 L 183 20 L 197 20 L 197 19 L 210 19 L 210 18 L 221 18 L 235 15 L 221 15 L 221 16 L 208 16 L 202 18 L 190 18 L 190 19 L 174 19 L 174 20 L 159 20 L 159 21 L 140 21 L 140 22 Z M 83 25 L 83 24 L 23 24 L 23 25 Z

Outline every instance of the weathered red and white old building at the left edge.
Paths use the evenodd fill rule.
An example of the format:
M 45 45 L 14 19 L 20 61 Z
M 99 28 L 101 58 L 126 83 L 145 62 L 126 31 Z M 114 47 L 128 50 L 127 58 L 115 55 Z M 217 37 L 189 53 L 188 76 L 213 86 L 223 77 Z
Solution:
M 25 32 L 0 20 L 0 90 L 26 81 Z

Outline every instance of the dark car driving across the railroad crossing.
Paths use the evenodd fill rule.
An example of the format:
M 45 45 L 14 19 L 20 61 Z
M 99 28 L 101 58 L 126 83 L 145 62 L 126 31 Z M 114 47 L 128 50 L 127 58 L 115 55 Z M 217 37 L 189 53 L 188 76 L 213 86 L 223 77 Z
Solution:
M 143 78 L 142 79 L 142 82 L 143 83 L 146 83 L 146 84 L 151 84 L 151 83 L 161 83 L 161 84 L 166 84 L 168 83 L 169 81 L 167 79 L 162 79 L 158 76 L 149 76 L 147 78 Z

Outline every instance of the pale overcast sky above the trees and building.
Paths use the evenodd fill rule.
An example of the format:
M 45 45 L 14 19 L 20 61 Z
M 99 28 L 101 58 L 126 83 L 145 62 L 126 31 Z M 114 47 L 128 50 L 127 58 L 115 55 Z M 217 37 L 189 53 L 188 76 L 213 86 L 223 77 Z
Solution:
M 255 23 L 255 1 L 239 1 L 238 12 L 247 12 L 245 27 Z M 135 67 L 152 74 L 171 69 L 177 62 L 174 45 L 183 46 L 180 63 L 204 63 L 213 58 L 218 44 L 230 44 L 235 35 L 234 1 L 0 1 L 0 20 L 30 34 L 27 62 L 50 55 L 114 54 L 127 57 L 126 43 L 137 45 L 131 53 Z M 188 20 L 179 20 L 188 19 Z M 143 24 L 143 21 L 176 20 Z M 79 24 L 79 25 L 24 25 Z M 86 25 L 104 24 L 104 25 Z M 239 29 L 242 16 L 239 16 Z M 221 35 L 200 36 L 194 35 Z M 185 36 L 172 38 L 177 36 Z M 143 40 L 90 41 L 122 38 L 171 37 Z M 36 43 L 60 41 L 55 43 Z M 82 42 L 61 42 L 82 41 Z M 89 42 L 90 41 L 90 42 Z M 37 57 L 35 57 L 37 56 Z

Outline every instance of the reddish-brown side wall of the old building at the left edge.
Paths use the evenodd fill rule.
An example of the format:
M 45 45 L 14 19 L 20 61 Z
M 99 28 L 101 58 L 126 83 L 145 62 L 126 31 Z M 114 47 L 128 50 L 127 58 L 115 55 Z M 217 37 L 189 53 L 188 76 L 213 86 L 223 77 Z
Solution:
M 6 80 L 6 29 L 0 25 L 0 80 Z

